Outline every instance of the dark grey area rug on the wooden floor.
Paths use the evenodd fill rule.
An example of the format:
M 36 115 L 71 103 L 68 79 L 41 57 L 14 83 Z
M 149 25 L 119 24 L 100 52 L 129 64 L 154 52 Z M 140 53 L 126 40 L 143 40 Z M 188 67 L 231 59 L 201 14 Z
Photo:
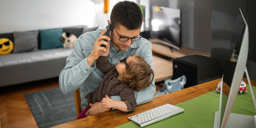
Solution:
M 53 127 L 77 118 L 74 93 L 63 94 L 59 87 L 54 87 L 24 96 L 38 128 Z

